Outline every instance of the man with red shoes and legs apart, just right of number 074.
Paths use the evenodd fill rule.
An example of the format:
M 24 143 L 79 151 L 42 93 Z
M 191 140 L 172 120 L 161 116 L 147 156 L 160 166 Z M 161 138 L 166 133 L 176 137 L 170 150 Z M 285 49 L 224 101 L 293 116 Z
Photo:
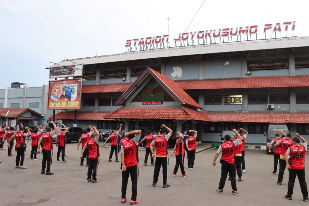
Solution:
M 186 172 L 184 171 L 184 135 L 177 132 L 178 135 L 178 140 L 176 141 L 176 145 L 174 147 L 173 152 L 171 153 L 171 156 L 174 154 L 175 150 L 176 150 L 176 165 L 174 168 L 174 172 L 173 172 L 173 176 L 175 177 L 178 171 L 178 168 L 180 166 L 180 170 L 181 170 L 181 174 L 183 177 L 186 177 Z

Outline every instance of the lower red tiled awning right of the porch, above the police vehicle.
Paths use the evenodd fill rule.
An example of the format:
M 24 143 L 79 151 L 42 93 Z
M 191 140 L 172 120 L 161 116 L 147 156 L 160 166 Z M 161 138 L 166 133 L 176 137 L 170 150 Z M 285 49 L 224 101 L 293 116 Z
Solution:
M 216 122 L 309 123 L 309 112 L 205 112 Z

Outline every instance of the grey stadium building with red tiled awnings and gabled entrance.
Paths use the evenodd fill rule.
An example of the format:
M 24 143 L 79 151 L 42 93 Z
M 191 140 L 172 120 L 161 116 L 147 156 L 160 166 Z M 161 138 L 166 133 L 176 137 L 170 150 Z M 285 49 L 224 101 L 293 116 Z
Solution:
M 286 124 L 309 140 L 309 37 L 159 48 L 61 61 L 83 65 L 77 125 L 99 130 L 198 131 L 218 142 L 243 127 L 264 144 L 268 124 Z M 56 65 L 49 66 L 53 68 Z M 53 117 L 50 117 L 52 119 Z M 74 110 L 55 115 L 67 125 Z

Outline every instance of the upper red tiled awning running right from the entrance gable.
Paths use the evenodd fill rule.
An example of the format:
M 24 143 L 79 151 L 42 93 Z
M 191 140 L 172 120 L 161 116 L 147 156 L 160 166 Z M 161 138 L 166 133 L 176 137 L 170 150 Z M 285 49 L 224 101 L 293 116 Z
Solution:
M 177 80 L 184 90 L 309 86 L 309 75 Z

